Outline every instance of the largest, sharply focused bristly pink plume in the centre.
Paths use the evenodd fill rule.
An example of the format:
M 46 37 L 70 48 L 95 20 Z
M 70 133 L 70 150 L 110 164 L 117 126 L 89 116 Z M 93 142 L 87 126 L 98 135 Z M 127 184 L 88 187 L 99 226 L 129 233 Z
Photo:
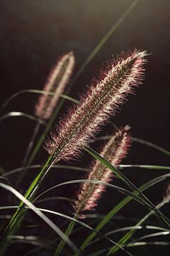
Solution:
M 79 156 L 108 117 L 123 104 L 126 95 L 142 83 L 146 55 L 145 51 L 135 49 L 106 63 L 98 80 L 94 79 L 81 96 L 81 104 L 69 110 L 46 142 L 55 162 Z

